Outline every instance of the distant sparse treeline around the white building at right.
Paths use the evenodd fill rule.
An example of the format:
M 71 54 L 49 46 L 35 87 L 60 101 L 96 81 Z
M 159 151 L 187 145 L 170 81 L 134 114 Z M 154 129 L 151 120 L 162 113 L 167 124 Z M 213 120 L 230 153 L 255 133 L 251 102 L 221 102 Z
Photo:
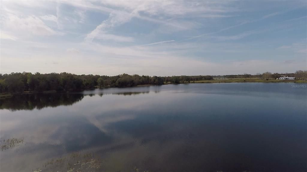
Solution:
M 295 73 L 257 73 L 256 75 L 251 75 L 244 73 L 243 75 L 216 75 L 212 76 L 214 78 L 265 78 L 265 79 L 276 79 L 279 77 L 296 77 L 297 79 L 307 78 L 307 70 L 297 70 Z

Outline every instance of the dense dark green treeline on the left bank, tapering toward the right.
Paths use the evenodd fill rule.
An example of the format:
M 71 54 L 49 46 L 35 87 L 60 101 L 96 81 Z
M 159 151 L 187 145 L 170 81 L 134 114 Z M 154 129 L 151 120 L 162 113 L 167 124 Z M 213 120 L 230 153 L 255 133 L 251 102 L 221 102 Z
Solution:
M 25 91 L 74 91 L 103 87 L 133 87 L 137 85 L 162 85 L 195 80 L 213 80 L 212 76 L 139 76 L 139 75 L 75 75 L 71 73 L 10 73 L 0 74 L 0 92 L 22 93 Z

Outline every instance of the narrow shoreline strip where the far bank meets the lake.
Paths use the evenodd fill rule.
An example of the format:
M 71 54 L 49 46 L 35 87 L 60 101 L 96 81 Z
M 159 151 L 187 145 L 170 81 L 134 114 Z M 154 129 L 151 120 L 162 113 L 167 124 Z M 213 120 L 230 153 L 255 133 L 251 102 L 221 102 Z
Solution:
M 307 83 L 307 80 L 276 80 L 276 79 L 215 79 L 215 80 L 198 80 L 198 81 L 186 81 L 179 84 L 214 84 L 214 83 L 297 83 L 297 84 L 304 84 Z M 175 83 L 164 83 L 163 85 L 168 84 L 175 84 Z M 152 84 L 144 84 L 144 85 L 137 85 L 134 87 L 148 87 L 148 86 L 154 86 Z M 103 88 L 127 88 L 127 87 L 103 87 Z M 97 88 L 91 88 L 91 89 L 83 89 L 83 90 L 74 90 L 74 91 L 44 91 L 44 92 L 33 92 L 33 91 L 27 91 L 23 93 L 1 93 L 1 98 L 7 98 L 14 95 L 25 95 L 25 94 L 36 94 L 36 93 L 59 93 L 59 92 L 79 92 L 79 91 L 85 91 L 85 90 L 93 90 Z

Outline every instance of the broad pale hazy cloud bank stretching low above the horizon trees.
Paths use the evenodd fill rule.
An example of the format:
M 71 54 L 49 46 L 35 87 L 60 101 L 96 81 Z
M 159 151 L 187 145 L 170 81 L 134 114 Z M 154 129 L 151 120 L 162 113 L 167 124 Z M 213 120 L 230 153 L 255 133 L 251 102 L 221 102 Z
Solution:
M 49 48 L 49 50 L 54 52 L 52 54 L 41 51 L 26 55 L 18 55 L 20 52 L 8 55 L 6 52 L 2 54 L 1 70 L 3 73 L 13 70 L 14 72 L 71 72 L 76 74 L 100 75 L 116 75 L 120 73 L 158 76 L 223 75 L 244 72 L 255 74 L 264 71 L 294 72 L 297 69 L 304 69 L 306 64 L 306 60 L 304 61 L 299 58 L 290 59 L 293 60 L 291 64 L 279 64 L 279 60 L 269 59 L 240 61 L 232 59 L 232 61 L 228 62 L 212 62 L 203 58 L 195 59 L 192 56 L 186 58 L 184 55 L 172 51 L 172 47 L 177 47 L 178 49 L 181 49 L 181 47 L 185 49 L 192 48 L 194 50 L 193 46 L 197 46 L 197 43 L 194 43 L 194 45 L 183 43 L 181 45 L 172 42 L 171 44 L 166 44 L 169 45 L 167 48 L 165 48 L 165 44 L 163 43 L 155 45 L 114 47 L 97 43 L 82 43 L 76 44 L 74 48 L 66 50 L 66 52 L 72 54 L 63 54 L 56 52 L 56 47 L 67 47 L 69 45 L 60 44 L 56 47 Z M 199 46 L 204 47 L 204 45 Z M 212 47 L 208 48 L 211 49 Z M 80 50 L 83 52 L 82 54 Z M 22 52 L 23 50 L 20 51 Z M 43 65 L 32 63 L 33 61 Z M 53 65 L 52 62 L 60 63 Z M 276 65 L 277 63 L 278 65 Z M 14 66 L 14 69 L 10 66 Z M 193 67 L 187 68 L 186 66 Z

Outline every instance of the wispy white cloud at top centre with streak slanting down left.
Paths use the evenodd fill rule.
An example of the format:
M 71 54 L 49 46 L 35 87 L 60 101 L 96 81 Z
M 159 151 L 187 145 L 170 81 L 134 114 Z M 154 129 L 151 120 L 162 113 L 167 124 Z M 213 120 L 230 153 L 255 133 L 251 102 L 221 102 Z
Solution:
M 210 1 L 103 1 L 101 3 L 115 9 L 111 10 L 107 20 L 87 34 L 85 38 L 87 41 L 92 41 L 101 32 L 107 32 L 107 29 L 124 24 L 134 17 L 162 24 L 160 31 L 168 33 L 197 28 L 200 25 L 195 21 L 174 20 L 169 17 L 192 14 L 218 17 L 220 13 L 233 10 L 230 7 L 226 7 L 228 2 L 212 3 Z M 89 6 L 91 5 L 87 4 L 87 7 Z

